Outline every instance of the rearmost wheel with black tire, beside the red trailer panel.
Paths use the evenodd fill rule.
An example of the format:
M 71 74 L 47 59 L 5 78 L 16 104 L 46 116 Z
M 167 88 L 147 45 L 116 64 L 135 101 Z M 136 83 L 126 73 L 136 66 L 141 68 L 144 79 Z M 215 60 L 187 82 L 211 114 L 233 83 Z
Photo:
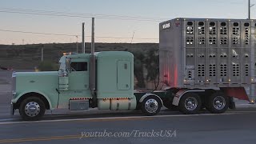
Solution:
M 219 104 L 217 104 L 216 101 L 219 101 Z M 229 108 L 229 106 L 229 98 L 226 97 L 225 94 L 223 94 L 222 92 L 216 92 L 214 94 L 211 94 L 210 97 L 207 98 L 206 109 L 209 110 L 210 113 L 222 114 Z

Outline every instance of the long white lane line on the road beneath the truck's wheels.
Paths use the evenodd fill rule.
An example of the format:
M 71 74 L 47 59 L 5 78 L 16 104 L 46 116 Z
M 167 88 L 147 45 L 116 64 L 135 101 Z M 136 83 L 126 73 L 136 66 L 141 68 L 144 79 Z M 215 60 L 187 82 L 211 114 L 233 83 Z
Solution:
M 90 120 L 102 120 L 102 119 L 126 119 L 126 118 L 169 118 L 169 117 L 194 117 L 194 116 L 214 116 L 214 115 L 231 115 L 238 113 L 224 113 L 224 114 L 178 114 L 178 115 L 155 115 L 155 116 L 131 116 L 131 117 L 110 117 L 110 118 L 74 118 L 74 119 L 56 119 L 56 120 L 42 120 L 42 121 L 30 121 L 30 122 L 0 122 L 0 125 L 5 124 L 22 124 L 22 123 L 39 123 L 39 122 L 69 122 L 69 121 L 90 121 Z M 241 113 L 242 114 L 242 113 Z M 17 119 L 12 119 L 17 120 Z

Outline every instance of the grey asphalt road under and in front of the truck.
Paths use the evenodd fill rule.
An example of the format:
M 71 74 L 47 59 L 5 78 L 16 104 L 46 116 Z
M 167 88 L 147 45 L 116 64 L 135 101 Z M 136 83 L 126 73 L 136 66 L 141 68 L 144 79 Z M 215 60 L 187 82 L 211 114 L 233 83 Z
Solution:
M 59 112 L 42 121 L 10 117 L 10 72 L 0 71 L 1 143 L 242 143 L 256 142 L 256 106 L 237 102 L 225 114 L 184 115 L 162 110 L 153 117 L 139 111 Z

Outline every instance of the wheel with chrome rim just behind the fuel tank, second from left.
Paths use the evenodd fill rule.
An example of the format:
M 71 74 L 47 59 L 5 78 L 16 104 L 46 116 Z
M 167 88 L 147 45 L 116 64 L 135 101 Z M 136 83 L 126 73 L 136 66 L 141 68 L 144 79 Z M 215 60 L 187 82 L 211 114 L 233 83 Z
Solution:
M 154 107 L 154 106 L 156 106 L 156 107 Z M 142 105 L 141 105 L 143 114 L 148 115 L 148 116 L 158 114 L 159 111 L 161 110 L 161 107 L 162 107 L 161 100 L 154 95 L 146 97 L 142 101 Z

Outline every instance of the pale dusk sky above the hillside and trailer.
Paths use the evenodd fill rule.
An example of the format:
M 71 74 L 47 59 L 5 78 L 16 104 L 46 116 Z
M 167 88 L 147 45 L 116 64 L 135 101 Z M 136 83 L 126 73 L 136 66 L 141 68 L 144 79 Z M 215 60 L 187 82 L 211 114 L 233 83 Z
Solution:
M 183 17 L 243 19 L 248 17 L 247 2 L 247 0 L 1 0 L 0 44 L 77 41 L 75 36 L 26 34 L 3 30 L 78 35 L 78 42 L 81 42 L 82 22 L 86 22 L 86 36 L 88 36 L 86 42 L 90 42 L 92 16 L 95 17 L 96 42 L 131 42 L 133 34 L 134 43 L 158 42 L 159 22 Z M 256 3 L 256 0 L 251 0 L 251 3 Z M 59 16 L 62 13 L 66 16 Z M 255 18 L 255 14 L 256 6 L 253 6 L 251 18 Z

